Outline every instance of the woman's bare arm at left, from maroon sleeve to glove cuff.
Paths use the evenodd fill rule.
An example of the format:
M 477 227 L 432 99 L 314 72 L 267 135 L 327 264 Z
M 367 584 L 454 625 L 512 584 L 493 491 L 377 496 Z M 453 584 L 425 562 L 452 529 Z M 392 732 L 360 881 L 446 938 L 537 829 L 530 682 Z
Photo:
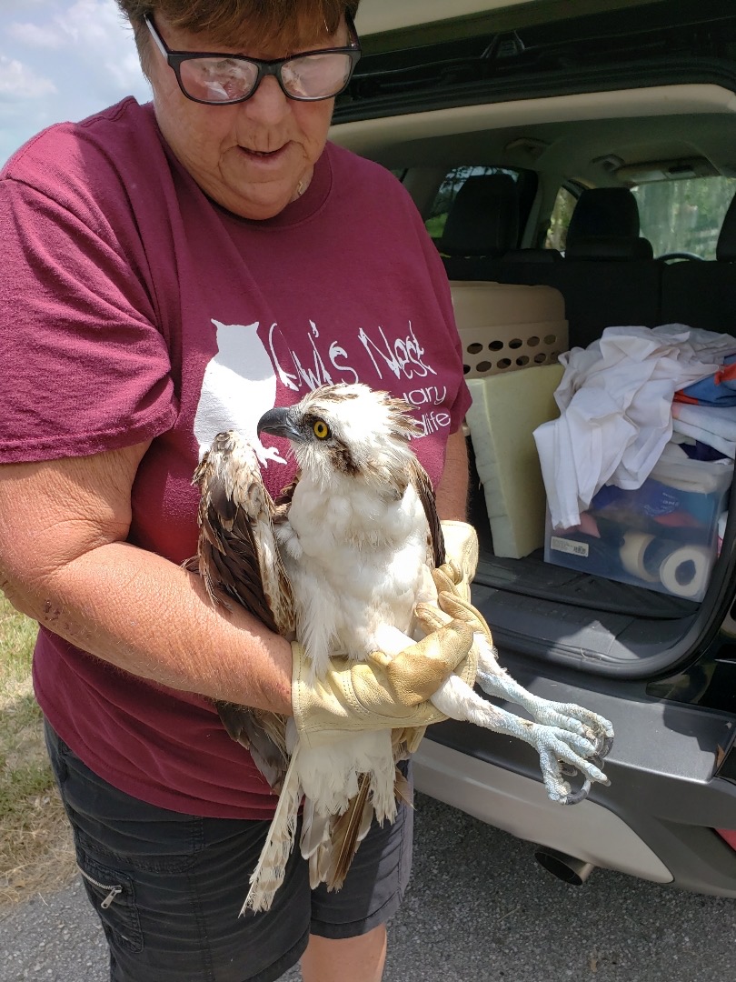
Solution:
M 125 541 L 147 449 L 0 466 L 0 588 L 133 675 L 290 713 L 289 642 L 240 608 L 214 608 L 199 576 Z

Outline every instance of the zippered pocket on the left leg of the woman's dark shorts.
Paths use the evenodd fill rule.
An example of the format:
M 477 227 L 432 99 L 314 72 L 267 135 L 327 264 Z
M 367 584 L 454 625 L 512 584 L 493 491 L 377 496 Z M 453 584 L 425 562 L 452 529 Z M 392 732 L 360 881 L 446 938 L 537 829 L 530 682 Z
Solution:
M 126 948 L 129 952 L 142 951 L 143 933 L 135 908 L 131 877 L 112 866 L 97 862 L 79 847 L 77 862 L 87 896 L 92 901 L 111 943 Z

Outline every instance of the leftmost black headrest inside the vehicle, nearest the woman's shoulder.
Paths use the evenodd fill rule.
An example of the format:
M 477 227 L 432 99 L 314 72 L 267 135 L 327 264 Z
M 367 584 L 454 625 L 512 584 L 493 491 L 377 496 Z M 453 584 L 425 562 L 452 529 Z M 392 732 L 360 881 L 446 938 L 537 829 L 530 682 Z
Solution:
M 519 195 L 509 174 L 477 174 L 455 196 L 438 243 L 452 256 L 498 256 L 519 238 Z

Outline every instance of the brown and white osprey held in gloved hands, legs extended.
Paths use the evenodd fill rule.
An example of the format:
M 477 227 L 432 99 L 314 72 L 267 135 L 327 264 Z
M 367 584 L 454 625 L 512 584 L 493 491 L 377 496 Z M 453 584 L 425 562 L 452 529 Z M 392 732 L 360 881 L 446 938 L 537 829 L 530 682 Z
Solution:
M 317 684 L 331 659 L 392 657 L 450 618 L 455 604 L 474 630 L 476 682 L 534 717 L 508 713 L 451 676 L 431 702 L 446 716 L 531 743 L 545 785 L 561 803 L 581 800 L 613 736 L 602 717 L 532 695 L 500 668 L 491 633 L 469 605 L 450 596 L 445 546 L 429 476 L 410 439 L 410 408 L 362 384 L 323 386 L 295 406 L 271 409 L 258 434 L 289 440 L 296 478 L 278 503 L 266 490 L 253 449 L 235 431 L 220 433 L 194 474 L 200 490 L 199 541 L 192 568 L 214 602 L 234 600 L 271 630 L 298 639 Z M 441 569 L 442 568 L 442 569 Z M 463 610 L 464 606 L 464 610 Z M 302 854 L 312 886 L 338 889 L 372 819 L 393 821 L 405 781 L 396 761 L 405 733 L 356 732 L 312 748 L 291 719 L 229 703 L 218 708 L 231 736 L 249 748 L 280 799 L 243 905 L 268 909 L 281 884 L 304 798 Z M 566 762 L 585 783 L 571 791 Z M 569 774 L 570 771 L 565 773 Z

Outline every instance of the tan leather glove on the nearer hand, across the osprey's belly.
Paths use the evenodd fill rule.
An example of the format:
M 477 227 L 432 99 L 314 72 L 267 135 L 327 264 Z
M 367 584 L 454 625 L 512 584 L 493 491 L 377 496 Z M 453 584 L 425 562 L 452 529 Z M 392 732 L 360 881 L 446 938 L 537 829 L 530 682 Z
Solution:
M 447 717 L 427 700 L 452 672 L 473 684 L 478 657 L 472 630 L 447 624 L 394 658 L 374 651 L 366 662 L 333 659 L 324 679 L 314 679 L 311 662 L 291 644 L 291 704 L 299 736 L 307 746 L 334 743 L 361 731 L 422 728 Z

